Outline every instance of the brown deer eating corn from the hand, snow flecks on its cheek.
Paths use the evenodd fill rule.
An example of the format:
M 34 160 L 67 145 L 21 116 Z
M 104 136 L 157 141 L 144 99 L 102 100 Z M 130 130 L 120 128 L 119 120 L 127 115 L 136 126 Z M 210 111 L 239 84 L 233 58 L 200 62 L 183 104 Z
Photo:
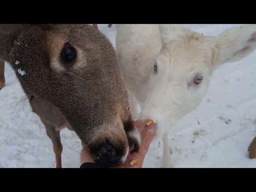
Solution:
M 87 24 L 22 24 L 3 32 L 10 63 L 53 143 L 61 168 L 60 130 L 74 130 L 103 166 L 123 163 L 140 145 L 115 50 Z M 39 141 L 38 141 L 39 142 Z

